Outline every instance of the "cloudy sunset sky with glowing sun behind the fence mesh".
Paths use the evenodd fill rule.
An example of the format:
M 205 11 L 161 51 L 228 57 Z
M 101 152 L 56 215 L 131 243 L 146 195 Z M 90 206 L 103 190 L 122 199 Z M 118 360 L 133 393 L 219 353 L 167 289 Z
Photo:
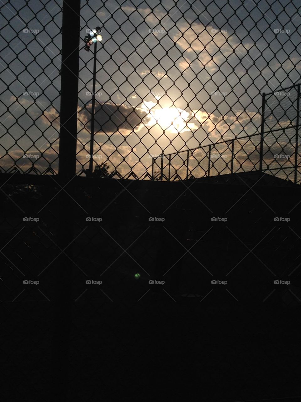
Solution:
M 300 81 L 298 1 L 224 4 L 82 1 L 81 31 L 74 35 L 81 48 L 78 171 L 89 162 L 93 78 L 93 52 L 83 50 L 82 39 L 98 25 L 97 163 L 107 161 L 123 176 L 132 167 L 142 177 L 150 155 L 258 133 L 262 92 Z M 3 170 L 20 158 L 23 171 L 34 162 L 40 172 L 49 163 L 57 172 L 61 5 L 11 0 L 0 6 Z M 285 127 L 294 118 L 279 113 L 269 117 L 271 126 L 279 121 Z M 43 156 L 24 160 L 24 151 Z

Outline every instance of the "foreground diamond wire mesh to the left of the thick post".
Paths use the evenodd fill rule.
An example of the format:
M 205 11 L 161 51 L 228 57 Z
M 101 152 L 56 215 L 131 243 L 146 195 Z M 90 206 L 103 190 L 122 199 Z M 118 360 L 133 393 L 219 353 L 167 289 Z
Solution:
M 61 5 L 1 2 L 1 172 L 57 173 Z

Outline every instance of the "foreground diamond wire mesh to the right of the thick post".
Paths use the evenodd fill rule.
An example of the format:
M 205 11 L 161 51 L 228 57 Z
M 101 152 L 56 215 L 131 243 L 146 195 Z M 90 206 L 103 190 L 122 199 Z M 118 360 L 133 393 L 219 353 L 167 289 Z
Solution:
M 299 79 L 301 19 L 294 1 L 288 8 L 279 1 L 273 7 L 235 1 L 92 1 L 83 2 L 81 16 L 82 37 L 100 26 L 103 38 L 96 53 L 93 166 L 107 162 L 114 177 L 149 179 L 158 171 L 158 160 L 153 167 L 152 158 L 162 153 L 205 152 L 205 145 L 257 134 L 260 92 Z M 79 174 L 89 162 L 92 51 L 81 53 L 80 77 Z M 282 110 L 293 116 L 285 102 L 275 110 L 276 119 Z M 267 103 L 273 103 L 272 96 Z M 268 130 L 274 127 L 270 123 Z M 239 156 L 234 171 L 256 165 L 251 141 L 257 139 L 248 143 L 254 163 L 245 160 L 240 166 Z M 185 152 L 172 161 L 172 179 L 185 176 Z M 188 176 L 206 174 L 206 158 L 204 166 L 188 159 Z M 229 172 L 229 165 L 230 160 L 218 158 L 212 174 Z

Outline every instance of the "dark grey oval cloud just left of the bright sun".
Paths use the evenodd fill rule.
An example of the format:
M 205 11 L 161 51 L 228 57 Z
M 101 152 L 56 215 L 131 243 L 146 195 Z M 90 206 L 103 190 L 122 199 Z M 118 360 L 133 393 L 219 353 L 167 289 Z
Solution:
M 87 109 L 83 109 L 79 113 L 79 118 L 86 127 L 91 127 L 91 105 Z M 127 135 L 133 129 L 139 129 L 142 119 L 146 124 L 150 117 L 146 117 L 147 113 L 139 107 L 133 108 L 126 105 L 114 105 L 112 103 L 103 103 L 95 107 L 95 133 L 102 131 L 107 134 L 113 134 L 121 131 Z

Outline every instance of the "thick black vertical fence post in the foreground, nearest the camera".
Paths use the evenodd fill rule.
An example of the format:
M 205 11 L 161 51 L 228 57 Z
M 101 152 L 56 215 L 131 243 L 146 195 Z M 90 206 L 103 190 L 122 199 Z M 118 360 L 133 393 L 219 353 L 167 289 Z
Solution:
M 74 189 L 72 178 L 76 173 L 80 9 L 80 0 L 63 1 L 58 180 L 64 191 L 59 192 L 56 204 L 55 242 L 64 252 L 61 252 L 45 274 L 42 274 L 49 273 L 51 277 L 55 277 L 50 394 L 51 400 L 57 402 L 69 400 L 70 298 L 73 265 L 68 256 L 72 258 L 74 238 L 74 201 L 71 197 Z

